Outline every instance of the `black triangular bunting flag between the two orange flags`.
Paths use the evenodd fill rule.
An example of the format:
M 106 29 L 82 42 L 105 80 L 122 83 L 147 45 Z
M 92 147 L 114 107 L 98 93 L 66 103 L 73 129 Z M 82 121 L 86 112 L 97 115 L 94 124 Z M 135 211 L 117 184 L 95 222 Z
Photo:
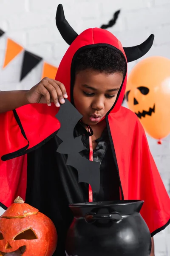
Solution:
M 24 79 L 28 75 L 28 73 L 37 66 L 37 64 L 40 63 L 42 60 L 41 57 L 34 55 L 31 52 L 25 51 L 24 57 L 23 57 L 23 65 L 22 65 L 22 71 L 20 76 L 20 81 Z

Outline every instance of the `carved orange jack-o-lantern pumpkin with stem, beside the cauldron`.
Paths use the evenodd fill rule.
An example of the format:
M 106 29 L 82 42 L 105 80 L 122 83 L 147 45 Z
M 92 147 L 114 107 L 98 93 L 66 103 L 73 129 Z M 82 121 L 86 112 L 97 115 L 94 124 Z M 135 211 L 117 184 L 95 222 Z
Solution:
M 52 256 L 56 247 L 53 222 L 22 198 L 0 217 L 0 256 Z

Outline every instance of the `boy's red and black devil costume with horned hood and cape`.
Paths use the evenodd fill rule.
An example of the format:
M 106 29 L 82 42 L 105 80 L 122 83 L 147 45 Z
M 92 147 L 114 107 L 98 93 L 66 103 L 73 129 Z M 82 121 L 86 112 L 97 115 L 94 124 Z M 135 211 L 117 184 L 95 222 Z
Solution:
M 55 79 L 65 85 L 71 102 L 74 59 L 82 49 L 108 46 L 130 62 L 144 55 L 153 44 L 151 35 L 137 47 L 123 48 L 114 35 L 98 28 L 77 35 L 65 20 L 61 5 L 56 23 L 70 47 Z M 141 213 L 153 236 L 170 223 L 170 198 L 150 154 L 142 125 L 132 111 L 121 106 L 126 81 L 127 75 L 116 102 L 105 116 L 107 129 L 94 151 L 94 161 L 100 161 L 100 188 L 94 200 L 144 200 Z M 57 152 L 62 143 L 57 137 L 60 128 L 57 112 L 54 104 L 51 107 L 29 104 L 0 114 L 0 206 L 6 209 L 20 195 L 26 203 L 51 218 L 58 233 L 54 255 L 62 256 L 73 218 L 68 204 L 88 201 L 88 184 L 78 182 L 77 170 L 66 164 L 67 154 Z M 82 135 L 86 149 L 81 154 L 88 158 L 89 135 L 85 131 L 79 122 L 74 136 Z

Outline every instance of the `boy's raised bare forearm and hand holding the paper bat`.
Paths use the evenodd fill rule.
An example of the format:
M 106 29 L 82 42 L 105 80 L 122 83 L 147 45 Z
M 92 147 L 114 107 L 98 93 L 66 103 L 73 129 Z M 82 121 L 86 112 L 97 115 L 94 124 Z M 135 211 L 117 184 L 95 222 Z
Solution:
M 30 90 L 0 91 L 0 113 L 29 103 L 46 103 L 51 106 L 51 102 L 54 102 L 59 107 L 67 97 L 64 84 L 46 77 Z

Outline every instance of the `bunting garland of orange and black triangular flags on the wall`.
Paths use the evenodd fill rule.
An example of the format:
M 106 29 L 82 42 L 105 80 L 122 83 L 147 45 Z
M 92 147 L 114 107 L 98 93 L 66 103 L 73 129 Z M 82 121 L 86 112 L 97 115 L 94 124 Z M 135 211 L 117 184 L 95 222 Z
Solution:
M 5 32 L 0 29 L 0 37 L 3 36 L 4 34 Z M 20 81 L 22 81 L 28 75 L 28 73 L 30 73 L 31 70 L 33 70 L 43 60 L 42 57 L 35 55 L 34 53 L 24 49 L 20 44 L 17 44 L 11 38 L 7 38 L 6 54 L 4 58 L 3 69 L 8 64 L 10 64 L 11 61 L 13 61 L 13 59 L 17 55 L 19 55 L 23 51 L 24 51 L 24 54 L 23 54 L 23 63 L 22 63 L 21 73 L 20 73 Z M 46 76 L 51 79 L 55 79 L 57 69 L 58 69 L 57 67 L 43 60 L 42 79 Z

